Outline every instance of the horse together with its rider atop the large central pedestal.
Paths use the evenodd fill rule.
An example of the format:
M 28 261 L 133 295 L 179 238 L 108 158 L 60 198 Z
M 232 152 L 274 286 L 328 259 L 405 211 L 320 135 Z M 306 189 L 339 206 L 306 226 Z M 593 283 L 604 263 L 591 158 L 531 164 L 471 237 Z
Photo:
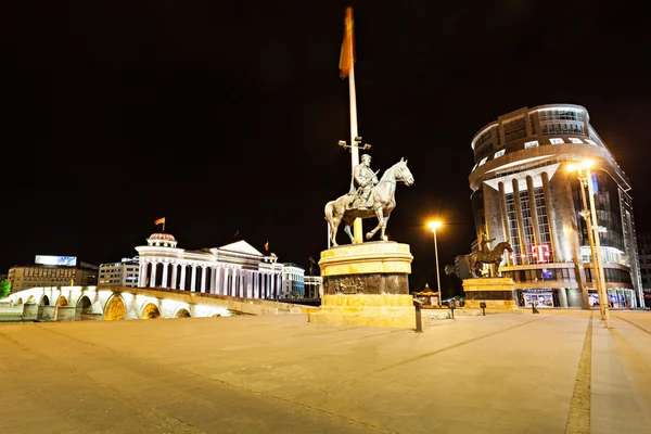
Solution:
M 381 239 L 384 240 L 384 231 L 391 213 L 396 207 L 396 183 L 401 181 L 405 186 L 413 184 L 413 176 L 407 167 L 407 161 L 400 161 L 390 167 L 382 178 L 378 180 L 378 174 L 370 168 L 371 156 L 361 156 L 361 163 L 353 170 L 350 191 L 334 201 L 326 204 L 326 220 L 330 227 L 330 241 L 333 247 L 337 246 L 336 231 L 342 220 L 344 232 L 355 244 L 355 237 L 350 227 L 356 218 L 378 218 L 378 226 L 366 234 L 370 240 L 381 230 Z

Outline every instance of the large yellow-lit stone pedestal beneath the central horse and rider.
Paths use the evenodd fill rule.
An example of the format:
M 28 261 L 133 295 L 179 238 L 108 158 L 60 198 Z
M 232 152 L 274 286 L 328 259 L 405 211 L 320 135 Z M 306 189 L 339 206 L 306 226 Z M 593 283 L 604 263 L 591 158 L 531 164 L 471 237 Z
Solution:
M 409 295 L 409 245 L 393 241 L 342 245 L 321 252 L 321 306 L 309 322 L 416 329 Z M 425 314 L 421 327 L 429 326 Z

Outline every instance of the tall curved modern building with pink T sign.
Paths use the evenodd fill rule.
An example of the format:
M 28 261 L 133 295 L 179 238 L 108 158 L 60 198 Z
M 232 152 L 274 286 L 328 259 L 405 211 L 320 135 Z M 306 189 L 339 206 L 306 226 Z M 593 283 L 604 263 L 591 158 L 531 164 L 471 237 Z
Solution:
M 503 277 L 520 306 L 598 302 L 580 182 L 571 164 L 589 161 L 603 268 L 612 307 L 643 306 L 630 183 L 589 123 L 585 107 L 520 108 L 472 139 L 469 177 L 480 240 L 510 242 Z M 587 192 L 586 192 L 587 197 Z

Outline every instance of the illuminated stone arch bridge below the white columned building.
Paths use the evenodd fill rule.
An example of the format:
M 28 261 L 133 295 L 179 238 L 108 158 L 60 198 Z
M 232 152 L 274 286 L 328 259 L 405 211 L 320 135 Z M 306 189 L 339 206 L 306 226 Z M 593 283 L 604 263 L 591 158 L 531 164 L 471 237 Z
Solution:
M 75 321 L 301 314 L 301 305 L 181 290 L 127 286 L 31 288 L 4 298 L 23 320 Z M 9 306 L 7 306 L 9 304 Z M 22 307 L 22 310 L 21 310 Z

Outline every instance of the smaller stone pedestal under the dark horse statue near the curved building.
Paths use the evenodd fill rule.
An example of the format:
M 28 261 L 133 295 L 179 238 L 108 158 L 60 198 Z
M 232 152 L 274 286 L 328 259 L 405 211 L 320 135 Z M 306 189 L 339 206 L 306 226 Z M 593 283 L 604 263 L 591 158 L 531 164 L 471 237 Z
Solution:
M 486 310 L 510 311 L 518 308 L 513 279 L 476 278 L 463 280 L 465 307 L 478 309 L 480 303 L 486 303 Z

